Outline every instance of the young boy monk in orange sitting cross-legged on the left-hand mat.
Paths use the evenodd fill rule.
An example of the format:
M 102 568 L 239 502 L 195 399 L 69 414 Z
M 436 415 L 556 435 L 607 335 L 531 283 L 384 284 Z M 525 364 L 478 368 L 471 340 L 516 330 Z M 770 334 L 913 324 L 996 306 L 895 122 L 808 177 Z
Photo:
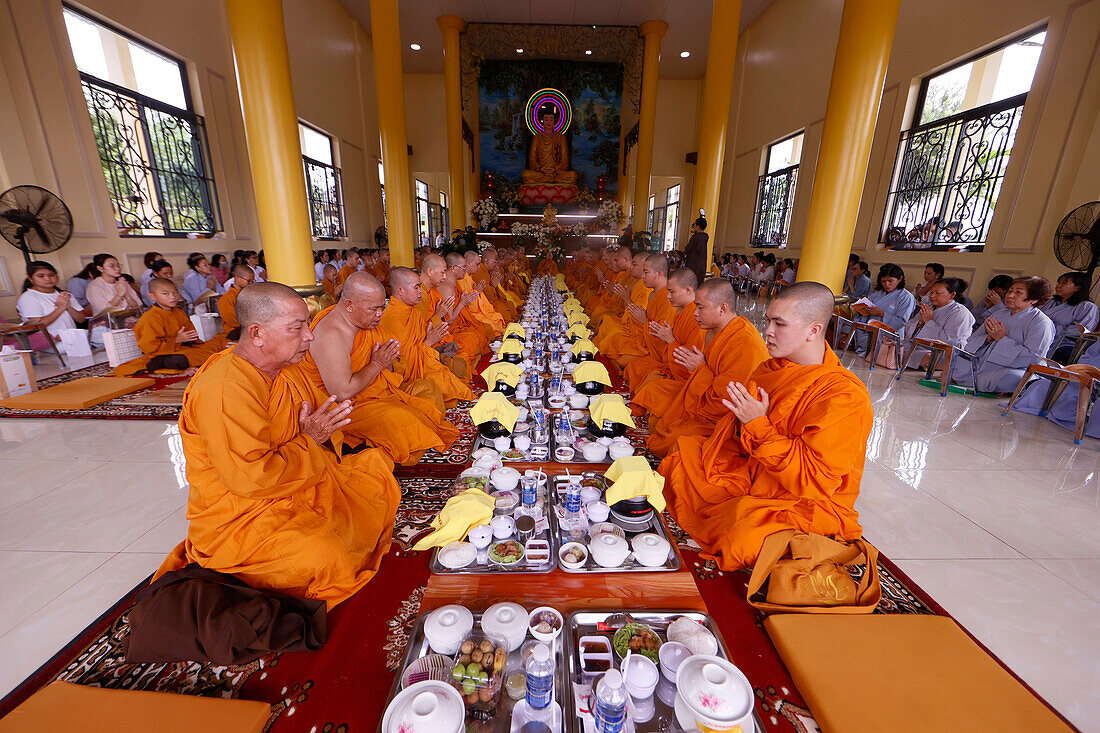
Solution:
M 148 296 L 153 307 L 142 314 L 134 325 L 134 337 L 142 354 L 114 369 L 114 376 L 130 376 L 158 369 L 177 369 L 194 373 L 194 368 L 226 348 L 226 336 L 218 333 L 204 342 L 195 325 L 182 309 L 180 295 L 170 280 L 154 277 L 148 281 Z

